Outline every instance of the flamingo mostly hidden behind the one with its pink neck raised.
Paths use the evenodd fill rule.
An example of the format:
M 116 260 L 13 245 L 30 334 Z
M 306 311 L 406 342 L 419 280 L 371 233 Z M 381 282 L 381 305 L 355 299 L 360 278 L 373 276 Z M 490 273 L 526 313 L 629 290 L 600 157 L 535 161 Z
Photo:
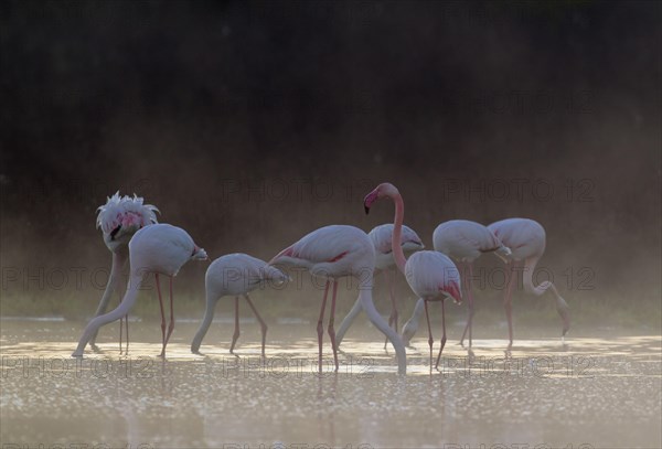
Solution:
M 391 249 L 391 239 L 393 234 L 393 223 L 386 223 L 380 226 L 375 226 L 367 236 L 372 240 L 375 247 L 375 268 L 381 270 L 384 274 L 384 278 L 386 278 L 386 285 L 388 286 L 388 292 L 391 295 L 391 317 L 388 317 L 388 325 L 393 325 L 395 332 L 397 332 L 397 304 L 395 302 L 395 295 L 393 292 L 394 287 L 394 277 L 395 277 L 395 259 L 393 258 L 393 250 Z M 402 234 L 402 247 L 405 254 L 412 254 L 414 252 L 420 250 L 425 248 L 425 245 L 420 240 L 420 237 L 414 229 L 408 226 L 403 225 L 403 234 Z M 350 313 L 342 320 L 340 323 L 340 328 L 335 333 L 335 341 L 338 346 L 342 342 L 344 334 L 348 329 L 352 325 L 352 322 L 361 312 L 361 300 L 356 299 L 352 310 Z M 388 339 L 384 342 L 384 348 Z

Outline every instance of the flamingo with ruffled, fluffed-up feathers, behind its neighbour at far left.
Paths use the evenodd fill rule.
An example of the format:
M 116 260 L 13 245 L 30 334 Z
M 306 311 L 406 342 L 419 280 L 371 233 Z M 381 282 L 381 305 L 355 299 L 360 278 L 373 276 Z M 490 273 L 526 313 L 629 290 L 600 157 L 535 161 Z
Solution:
M 99 301 L 99 306 L 95 312 L 95 317 L 99 317 L 106 312 L 108 302 L 113 292 L 118 288 L 119 275 L 121 268 L 129 258 L 128 244 L 134 234 L 143 226 L 158 223 L 157 212 L 160 212 L 157 206 L 143 204 L 143 199 L 134 193 L 134 197 L 128 195 L 120 196 L 117 191 L 113 196 L 106 199 L 106 204 L 97 209 L 97 228 L 102 229 L 104 243 L 113 253 L 113 265 L 108 284 L 104 296 Z M 120 293 L 121 298 L 121 293 Z M 127 321 L 127 352 L 129 351 L 129 317 L 125 317 Z M 119 321 L 119 352 L 121 353 L 121 319 Z M 97 332 L 92 335 L 89 345 L 94 351 L 98 351 L 96 345 Z

